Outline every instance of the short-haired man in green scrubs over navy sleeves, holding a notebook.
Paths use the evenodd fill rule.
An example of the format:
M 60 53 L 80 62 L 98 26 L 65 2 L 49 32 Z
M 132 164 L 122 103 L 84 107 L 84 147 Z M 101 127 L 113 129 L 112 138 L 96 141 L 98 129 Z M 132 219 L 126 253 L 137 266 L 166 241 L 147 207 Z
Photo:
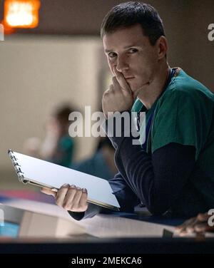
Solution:
M 168 66 L 163 23 L 152 6 L 128 2 L 113 7 L 101 37 L 113 74 L 103 94 L 107 122 L 108 112 L 146 112 L 142 146 L 133 145 L 124 129 L 121 138 L 111 138 L 119 173 L 110 183 L 121 211 L 131 212 L 140 202 L 155 215 L 208 211 L 214 207 L 213 93 Z M 98 212 L 86 198 L 86 190 L 64 185 L 56 203 L 81 220 Z

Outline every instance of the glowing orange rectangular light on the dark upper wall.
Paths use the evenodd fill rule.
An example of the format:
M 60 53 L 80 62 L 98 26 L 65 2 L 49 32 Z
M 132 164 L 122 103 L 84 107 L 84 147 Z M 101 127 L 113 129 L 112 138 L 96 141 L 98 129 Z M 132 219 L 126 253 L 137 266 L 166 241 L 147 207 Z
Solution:
M 39 24 L 39 0 L 5 0 L 4 24 L 12 28 L 35 28 Z

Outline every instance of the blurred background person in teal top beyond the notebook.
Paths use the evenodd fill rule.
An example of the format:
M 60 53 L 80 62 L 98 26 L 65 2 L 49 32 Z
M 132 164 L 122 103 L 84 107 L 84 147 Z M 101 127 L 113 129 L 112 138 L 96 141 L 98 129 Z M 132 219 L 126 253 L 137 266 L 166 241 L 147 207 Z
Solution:
M 68 134 L 68 127 L 71 124 L 68 116 L 73 111 L 71 105 L 59 106 L 46 123 L 44 140 L 29 138 L 24 143 L 24 153 L 69 167 L 73 159 L 74 141 Z

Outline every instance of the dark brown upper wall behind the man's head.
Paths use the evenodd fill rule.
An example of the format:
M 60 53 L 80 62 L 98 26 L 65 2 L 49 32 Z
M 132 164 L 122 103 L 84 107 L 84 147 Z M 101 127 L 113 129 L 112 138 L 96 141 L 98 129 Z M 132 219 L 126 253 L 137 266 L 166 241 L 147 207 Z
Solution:
M 118 0 L 41 0 L 39 26 L 17 33 L 99 35 L 101 21 Z M 214 91 L 214 41 L 208 41 L 208 25 L 214 23 L 213 0 L 151 0 L 165 24 L 170 44 L 168 59 L 183 67 Z M 0 19 L 3 18 L 0 0 Z

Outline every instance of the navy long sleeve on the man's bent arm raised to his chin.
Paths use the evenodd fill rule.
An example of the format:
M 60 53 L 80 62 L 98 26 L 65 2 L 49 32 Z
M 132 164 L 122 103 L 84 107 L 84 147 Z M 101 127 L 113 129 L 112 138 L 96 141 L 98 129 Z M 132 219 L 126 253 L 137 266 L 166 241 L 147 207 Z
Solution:
M 111 137 L 116 165 L 148 210 L 161 215 L 173 206 L 195 165 L 195 147 L 169 143 L 148 155 L 132 137 Z

